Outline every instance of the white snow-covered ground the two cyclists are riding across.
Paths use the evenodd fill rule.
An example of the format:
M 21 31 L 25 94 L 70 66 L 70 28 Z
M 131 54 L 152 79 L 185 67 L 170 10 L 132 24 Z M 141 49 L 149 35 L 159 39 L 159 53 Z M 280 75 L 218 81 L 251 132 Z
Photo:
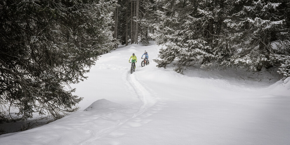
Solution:
M 129 45 L 104 54 L 72 87 L 81 109 L 1 145 L 288 145 L 290 78 L 277 74 L 157 68 L 157 46 Z M 141 67 L 144 50 L 150 64 Z M 130 74 L 129 57 L 137 56 Z

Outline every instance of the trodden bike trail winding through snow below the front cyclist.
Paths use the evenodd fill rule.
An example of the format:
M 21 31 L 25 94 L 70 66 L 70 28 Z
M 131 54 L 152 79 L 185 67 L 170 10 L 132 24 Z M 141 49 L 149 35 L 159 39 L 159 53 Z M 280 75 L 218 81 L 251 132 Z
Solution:
M 139 61 L 140 62 L 140 61 Z M 138 64 L 136 64 L 138 65 Z M 144 117 L 139 117 L 138 119 L 135 119 L 136 117 L 142 115 L 144 112 L 146 112 L 147 110 L 151 110 L 148 111 L 146 115 L 143 116 L 149 116 L 152 115 L 152 113 L 156 113 L 158 110 L 162 110 L 160 104 L 162 103 L 158 103 L 159 105 L 156 105 L 154 108 L 149 109 L 150 107 L 152 107 L 153 105 L 156 104 L 156 102 L 158 101 L 158 98 L 154 98 L 151 93 L 149 91 L 147 91 L 147 89 L 136 79 L 137 77 L 137 73 L 138 70 L 142 69 L 142 68 L 136 68 L 136 71 L 133 74 L 130 74 L 130 72 L 128 71 L 128 67 L 124 67 L 124 66 L 119 66 L 119 65 L 106 65 L 106 64 L 101 64 L 98 65 L 99 69 L 106 69 L 106 68 L 110 68 L 110 70 L 112 69 L 113 71 L 118 71 L 118 72 L 122 72 L 122 78 L 123 80 L 125 80 L 125 84 L 129 84 L 129 88 L 134 90 L 134 91 L 130 91 L 131 94 L 133 96 L 135 96 L 136 98 L 139 99 L 139 102 L 135 102 L 134 104 L 131 104 L 129 106 L 124 106 L 121 108 L 114 108 L 114 114 L 112 115 L 112 113 L 103 113 L 101 116 L 102 117 L 107 117 L 106 120 L 112 120 L 112 117 L 115 116 L 122 116 L 122 119 L 118 118 L 118 120 L 114 120 L 114 122 L 112 122 L 112 124 L 106 124 L 106 126 L 102 125 L 101 129 L 98 129 L 97 131 L 96 128 L 94 128 L 94 131 L 91 131 L 92 136 L 83 139 L 83 141 L 77 143 L 77 144 L 81 144 L 81 145 L 86 145 L 86 144 L 95 144 L 98 143 L 98 139 L 106 137 L 106 136 L 110 136 L 110 134 L 116 130 L 117 128 L 119 128 L 120 126 L 122 126 L 124 123 L 128 123 L 131 124 L 131 127 L 137 127 L 139 126 L 139 122 L 142 122 L 142 119 Z M 118 113 L 116 113 L 118 112 Z M 125 113 L 124 112 L 129 112 L 129 113 Z M 151 120 L 145 120 L 143 121 L 144 123 L 148 123 Z

